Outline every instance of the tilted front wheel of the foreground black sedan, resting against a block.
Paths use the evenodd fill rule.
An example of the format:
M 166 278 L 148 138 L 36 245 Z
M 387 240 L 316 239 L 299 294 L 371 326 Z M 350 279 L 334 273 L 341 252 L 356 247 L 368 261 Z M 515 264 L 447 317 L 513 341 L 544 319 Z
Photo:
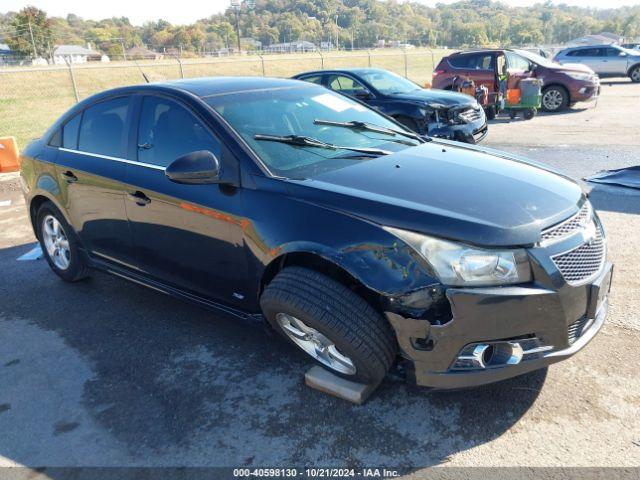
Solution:
M 302 267 L 283 269 L 265 288 L 260 306 L 275 330 L 336 375 L 377 384 L 393 364 L 397 346 L 386 319 L 362 297 L 321 273 Z M 294 330 L 297 332 L 290 333 Z M 330 353 L 323 361 L 317 344 L 300 338 L 300 333 L 320 342 L 328 340 L 334 355 L 335 351 L 338 355 Z M 346 357 L 353 368 L 345 361 L 336 361 L 339 356 L 342 360 Z

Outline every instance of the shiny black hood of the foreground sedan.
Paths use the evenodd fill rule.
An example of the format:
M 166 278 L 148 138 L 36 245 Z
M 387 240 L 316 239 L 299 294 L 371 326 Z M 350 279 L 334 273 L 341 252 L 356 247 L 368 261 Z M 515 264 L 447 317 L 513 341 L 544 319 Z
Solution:
M 347 215 L 485 246 L 531 245 L 578 211 L 573 180 L 505 154 L 429 142 L 307 180 L 290 194 Z

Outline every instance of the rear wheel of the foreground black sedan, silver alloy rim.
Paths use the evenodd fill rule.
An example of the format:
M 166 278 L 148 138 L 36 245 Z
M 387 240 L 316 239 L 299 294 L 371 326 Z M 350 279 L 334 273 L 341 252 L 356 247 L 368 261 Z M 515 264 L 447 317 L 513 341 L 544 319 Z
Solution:
M 36 215 L 36 222 L 38 241 L 51 270 L 66 282 L 77 282 L 87 278 L 90 268 L 80 254 L 78 236 L 53 203 L 45 202 L 40 206 Z M 66 239 L 67 248 L 64 248 L 63 237 L 59 235 L 55 237 L 58 240 L 56 244 L 53 241 L 54 236 L 46 231 L 47 228 L 49 230 L 51 228 L 55 229 L 56 222 L 59 228 L 58 232 L 61 231 L 64 239 Z M 45 223 L 47 226 L 45 226 Z M 56 245 L 57 255 L 54 253 Z

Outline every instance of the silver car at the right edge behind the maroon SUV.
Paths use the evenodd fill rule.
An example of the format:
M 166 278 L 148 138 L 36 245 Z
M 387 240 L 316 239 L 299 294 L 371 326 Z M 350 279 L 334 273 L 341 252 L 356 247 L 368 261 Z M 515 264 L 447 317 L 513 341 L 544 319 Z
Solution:
M 629 77 L 640 82 L 640 50 L 619 45 L 589 45 L 565 48 L 555 60 L 562 64 L 586 65 L 601 77 Z

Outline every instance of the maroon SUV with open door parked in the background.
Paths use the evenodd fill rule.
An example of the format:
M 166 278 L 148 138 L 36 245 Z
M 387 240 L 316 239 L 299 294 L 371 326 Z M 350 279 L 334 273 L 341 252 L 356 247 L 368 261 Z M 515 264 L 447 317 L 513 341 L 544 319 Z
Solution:
M 433 72 L 433 87 L 454 89 L 456 82 L 470 78 L 490 92 L 500 91 L 499 72 L 509 73 L 507 88 L 523 78 L 541 79 L 542 109 L 559 112 L 576 102 L 597 98 L 598 76 L 584 65 L 560 65 L 540 55 L 520 49 L 483 49 L 458 52 L 444 57 Z M 492 109 L 492 106 L 488 107 Z M 488 112 L 489 117 L 493 112 Z

